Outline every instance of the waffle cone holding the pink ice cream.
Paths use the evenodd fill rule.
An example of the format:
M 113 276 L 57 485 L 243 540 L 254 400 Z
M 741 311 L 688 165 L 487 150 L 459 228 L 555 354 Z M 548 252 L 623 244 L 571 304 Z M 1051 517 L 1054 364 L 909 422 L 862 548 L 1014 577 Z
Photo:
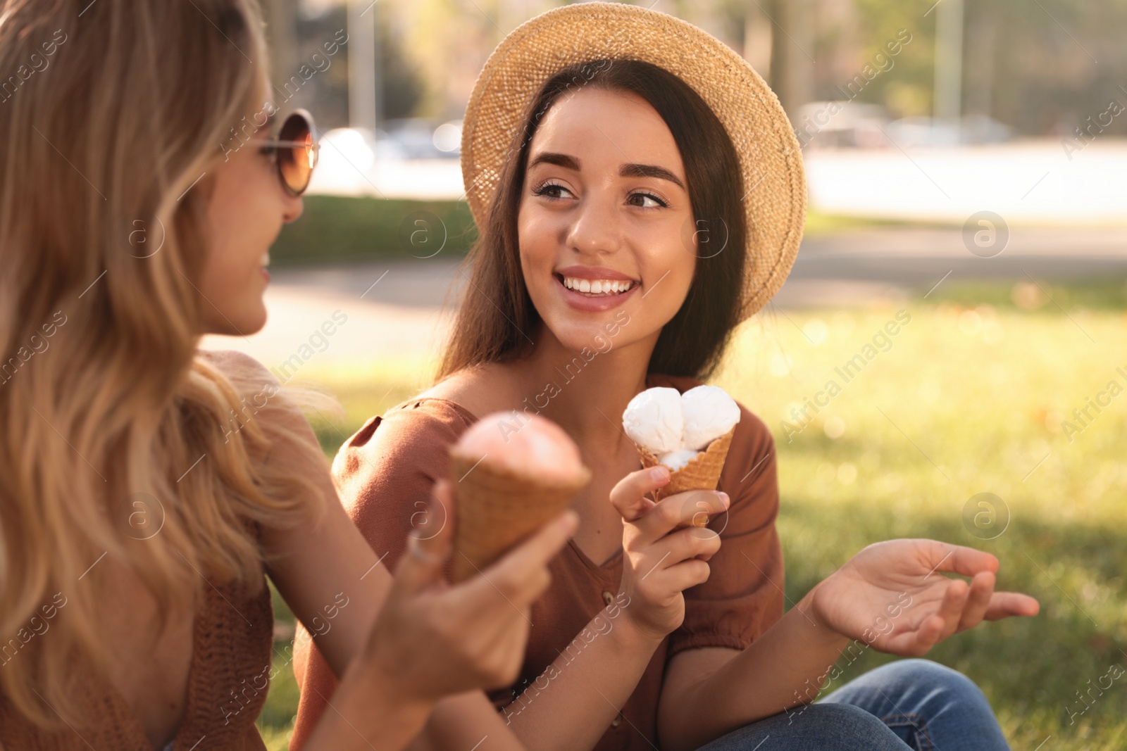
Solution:
M 571 504 L 591 482 L 591 472 L 571 483 L 552 484 L 494 467 L 480 457 L 451 452 L 455 517 L 453 581 L 483 571 L 514 545 Z M 459 480 L 461 479 L 461 480 Z

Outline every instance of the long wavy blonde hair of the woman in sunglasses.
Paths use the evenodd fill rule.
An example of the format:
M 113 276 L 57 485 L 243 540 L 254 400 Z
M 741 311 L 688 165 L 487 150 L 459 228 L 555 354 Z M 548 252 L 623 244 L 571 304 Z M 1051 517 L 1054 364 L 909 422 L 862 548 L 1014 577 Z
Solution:
M 0 650 L 65 604 L 0 665 L 0 695 L 56 727 L 106 667 L 91 564 L 128 566 L 163 628 L 199 573 L 260 593 L 248 525 L 295 524 L 316 489 L 265 474 L 270 439 L 231 429 L 242 396 L 196 351 L 208 180 L 192 186 L 260 109 L 255 0 L 0 9 Z M 163 515 L 145 542 L 125 522 L 136 494 Z

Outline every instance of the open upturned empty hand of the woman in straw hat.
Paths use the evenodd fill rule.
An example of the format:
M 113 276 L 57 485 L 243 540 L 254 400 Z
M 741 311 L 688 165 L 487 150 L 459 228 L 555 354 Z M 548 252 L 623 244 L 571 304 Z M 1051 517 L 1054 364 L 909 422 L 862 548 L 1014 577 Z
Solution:
M 997 558 L 932 539 L 894 539 L 864 548 L 820 582 L 813 611 L 832 631 L 880 652 L 919 656 L 984 618 L 1033 616 L 1028 594 L 995 592 Z M 943 572 L 970 578 L 949 579 Z

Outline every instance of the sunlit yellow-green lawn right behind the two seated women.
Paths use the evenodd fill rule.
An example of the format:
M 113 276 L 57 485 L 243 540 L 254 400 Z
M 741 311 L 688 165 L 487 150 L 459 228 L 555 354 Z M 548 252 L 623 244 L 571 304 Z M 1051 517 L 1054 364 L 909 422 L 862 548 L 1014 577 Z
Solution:
M 1055 302 L 1032 285 L 948 283 L 926 301 L 921 292 L 899 305 L 761 316 L 737 333 L 715 383 L 775 435 L 789 601 L 872 542 L 933 537 L 990 551 L 1002 562 L 999 587 L 1037 597 L 1040 615 L 985 624 L 929 656 L 982 686 L 1014 748 L 1051 736 L 1046 751 L 1110 751 L 1127 748 L 1127 681 L 1093 687 L 1112 664 L 1127 667 L 1127 394 L 1072 441 L 1061 423 L 1109 381 L 1127 386 L 1116 373 L 1127 372 L 1125 287 L 1044 287 Z M 835 368 L 899 310 L 911 323 L 844 383 Z M 319 374 L 347 412 L 318 426 L 326 453 L 423 386 L 426 368 Z M 831 378 L 841 393 L 788 442 L 783 421 Z M 1011 515 L 995 539 L 962 521 L 980 492 Z M 292 618 L 278 605 L 279 619 Z M 277 646 L 283 665 L 287 644 Z M 843 660 L 836 685 L 887 660 Z M 295 706 L 285 664 L 259 723 L 272 749 L 285 748 Z

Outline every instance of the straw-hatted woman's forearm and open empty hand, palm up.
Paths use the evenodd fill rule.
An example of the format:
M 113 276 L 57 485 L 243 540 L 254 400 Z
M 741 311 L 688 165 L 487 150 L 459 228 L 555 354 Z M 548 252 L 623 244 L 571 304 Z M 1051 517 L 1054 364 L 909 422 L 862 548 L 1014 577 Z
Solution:
M 658 709 L 669 751 L 695 749 L 737 727 L 813 701 L 855 640 L 881 652 L 925 654 L 986 618 L 1037 614 L 1037 600 L 994 591 L 997 558 L 934 540 L 870 545 L 810 590 L 746 650 L 673 658 Z M 940 572 L 971 576 L 961 579 Z M 798 713 L 796 713 L 798 714 Z

